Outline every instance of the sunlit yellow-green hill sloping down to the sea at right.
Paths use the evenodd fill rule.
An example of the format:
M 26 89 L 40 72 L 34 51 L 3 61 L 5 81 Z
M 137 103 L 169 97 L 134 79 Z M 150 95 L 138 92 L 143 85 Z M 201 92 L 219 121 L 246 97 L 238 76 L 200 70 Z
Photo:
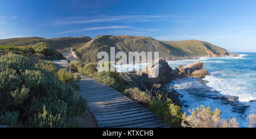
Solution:
M 163 43 L 183 50 L 190 56 L 226 56 L 230 53 L 221 47 L 199 40 L 162 41 Z

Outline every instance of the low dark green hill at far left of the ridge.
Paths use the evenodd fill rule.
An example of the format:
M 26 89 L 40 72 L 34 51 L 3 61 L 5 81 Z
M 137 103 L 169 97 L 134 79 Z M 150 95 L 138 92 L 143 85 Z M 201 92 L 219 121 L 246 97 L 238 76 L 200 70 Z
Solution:
M 92 40 L 90 37 L 61 37 L 55 39 L 45 39 L 43 37 L 20 37 L 14 39 L 2 39 L 0 45 L 5 46 L 27 46 L 37 43 L 48 43 L 52 49 L 58 52 L 65 52 L 70 48 L 82 47 L 86 42 Z

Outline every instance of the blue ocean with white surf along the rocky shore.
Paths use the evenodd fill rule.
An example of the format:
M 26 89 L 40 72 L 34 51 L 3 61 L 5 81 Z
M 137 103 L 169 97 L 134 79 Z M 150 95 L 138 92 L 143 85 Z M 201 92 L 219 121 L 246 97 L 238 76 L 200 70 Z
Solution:
M 240 127 L 247 127 L 247 116 L 255 112 L 256 102 L 256 53 L 236 53 L 237 57 L 200 57 L 197 60 L 167 61 L 172 69 L 177 65 L 187 65 L 196 61 L 204 62 L 209 76 L 203 78 L 207 83 L 201 83 L 199 78 L 178 78 L 170 83 L 181 94 L 179 99 L 183 111 L 209 106 L 221 110 L 222 119 L 236 117 Z M 146 64 L 138 64 L 145 66 Z M 125 71 L 130 65 L 117 65 L 118 71 Z M 237 96 L 237 103 L 227 103 L 221 96 Z M 243 107 L 242 107 L 243 106 Z M 245 107 L 246 106 L 246 107 Z M 241 109 L 245 109 L 241 112 Z

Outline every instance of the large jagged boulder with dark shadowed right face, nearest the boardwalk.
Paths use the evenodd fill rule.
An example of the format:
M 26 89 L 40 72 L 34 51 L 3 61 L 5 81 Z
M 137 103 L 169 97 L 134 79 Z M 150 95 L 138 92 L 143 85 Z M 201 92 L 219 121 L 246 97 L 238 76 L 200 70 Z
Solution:
M 158 68 L 158 75 L 155 73 L 157 71 L 156 68 Z M 171 79 L 174 79 L 174 71 L 172 71 L 172 68 L 168 65 L 164 58 L 159 58 L 158 60 L 154 61 L 154 64 L 148 64 L 137 74 L 142 75 L 143 78 L 146 78 L 149 86 L 154 84 L 169 83 L 171 82 Z

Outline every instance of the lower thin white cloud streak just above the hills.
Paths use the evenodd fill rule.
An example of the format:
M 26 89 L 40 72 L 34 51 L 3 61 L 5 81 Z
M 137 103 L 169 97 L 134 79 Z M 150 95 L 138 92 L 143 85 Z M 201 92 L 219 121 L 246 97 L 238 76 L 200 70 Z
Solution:
M 69 30 L 64 32 L 58 32 L 56 34 L 65 34 L 65 33 L 81 32 L 81 31 L 89 31 L 89 30 L 117 29 L 117 28 L 132 28 L 132 27 L 129 27 L 129 26 L 89 27 L 89 28 L 82 28 L 81 30 Z

